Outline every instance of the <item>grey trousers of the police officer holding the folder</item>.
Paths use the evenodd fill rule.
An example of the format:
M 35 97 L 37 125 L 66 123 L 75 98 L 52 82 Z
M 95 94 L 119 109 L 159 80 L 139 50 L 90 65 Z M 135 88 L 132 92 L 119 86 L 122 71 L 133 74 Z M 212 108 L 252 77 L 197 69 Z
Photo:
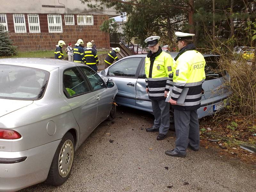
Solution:
M 181 155 L 186 154 L 188 143 L 193 148 L 199 148 L 200 132 L 196 110 L 181 111 L 174 109 L 174 122 L 176 132 L 175 151 Z

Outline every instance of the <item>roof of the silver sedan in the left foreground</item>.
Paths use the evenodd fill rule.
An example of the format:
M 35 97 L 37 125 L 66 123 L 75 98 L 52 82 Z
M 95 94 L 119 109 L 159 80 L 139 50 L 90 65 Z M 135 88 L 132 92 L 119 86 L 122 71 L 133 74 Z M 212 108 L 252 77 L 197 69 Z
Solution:
M 6 58 L 0 59 L 0 64 L 5 65 L 17 65 L 31 68 L 43 69 L 46 71 L 51 71 L 55 68 L 61 66 L 72 66 L 72 65 L 81 65 L 67 60 L 58 60 L 58 59 L 47 59 L 47 58 Z

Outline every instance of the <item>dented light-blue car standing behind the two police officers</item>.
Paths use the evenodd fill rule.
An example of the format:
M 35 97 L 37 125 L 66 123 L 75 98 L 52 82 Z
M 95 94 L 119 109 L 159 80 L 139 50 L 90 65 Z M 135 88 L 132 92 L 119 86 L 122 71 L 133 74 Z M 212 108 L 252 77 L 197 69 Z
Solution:
M 167 52 L 175 58 L 178 52 Z M 98 74 L 114 79 L 118 88 L 116 103 L 153 113 L 151 100 L 146 93 L 145 58 L 147 54 L 132 55 L 118 60 Z M 206 60 L 206 79 L 202 85 L 201 107 L 197 110 L 199 118 L 209 116 L 227 105 L 230 95 L 224 84 L 229 80 L 226 71 L 218 70 L 219 55 L 204 55 Z M 170 108 L 170 120 L 173 122 L 173 109 Z

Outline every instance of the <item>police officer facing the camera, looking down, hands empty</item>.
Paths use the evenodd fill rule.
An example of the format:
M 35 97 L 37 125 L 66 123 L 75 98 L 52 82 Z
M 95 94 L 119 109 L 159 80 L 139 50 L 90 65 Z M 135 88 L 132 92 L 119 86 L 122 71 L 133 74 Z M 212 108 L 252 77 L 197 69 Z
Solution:
M 155 116 L 154 125 L 146 131 L 159 132 L 156 139 L 163 140 L 170 126 L 170 104 L 165 102 L 165 98 L 172 85 L 169 74 L 173 72 L 173 60 L 170 54 L 162 51 L 159 39 L 159 36 L 150 36 L 145 40 L 150 49 L 145 59 L 146 92 Z

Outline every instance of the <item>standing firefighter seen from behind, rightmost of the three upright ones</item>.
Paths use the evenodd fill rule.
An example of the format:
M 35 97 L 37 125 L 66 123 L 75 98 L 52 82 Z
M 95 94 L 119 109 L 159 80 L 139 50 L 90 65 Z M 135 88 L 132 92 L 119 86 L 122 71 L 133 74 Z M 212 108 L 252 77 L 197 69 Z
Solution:
M 88 42 L 86 44 L 86 50 L 84 51 L 84 63 L 97 72 L 97 65 L 99 64 L 99 59 L 96 51 L 92 49 L 92 43 Z

